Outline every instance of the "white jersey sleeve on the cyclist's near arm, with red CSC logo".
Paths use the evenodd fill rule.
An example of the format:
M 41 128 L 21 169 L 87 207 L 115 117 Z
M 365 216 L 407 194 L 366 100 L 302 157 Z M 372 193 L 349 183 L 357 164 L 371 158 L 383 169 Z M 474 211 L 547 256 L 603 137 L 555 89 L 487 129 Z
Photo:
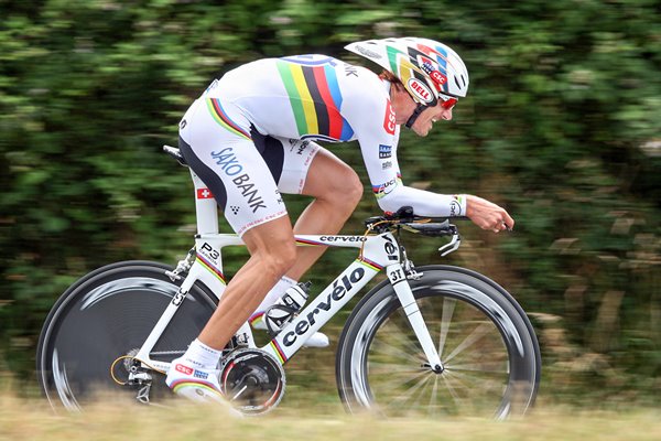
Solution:
M 394 123 L 394 111 L 387 94 L 361 94 L 362 99 L 348 115 L 372 193 L 384 212 L 397 212 L 412 206 L 420 216 L 465 216 L 466 197 L 446 195 L 404 185 L 397 160 L 400 127 Z

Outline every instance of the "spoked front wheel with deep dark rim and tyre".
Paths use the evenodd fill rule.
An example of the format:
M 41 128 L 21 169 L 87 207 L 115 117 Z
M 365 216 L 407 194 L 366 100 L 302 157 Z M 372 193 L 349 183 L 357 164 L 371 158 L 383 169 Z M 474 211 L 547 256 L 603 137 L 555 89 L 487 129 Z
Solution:
M 494 281 L 447 266 L 423 267 L 409 283 L 443 363 L 429 366 L 388 281 L 347 321 L 337 354 L 340 398 L 351 411 L 390 417 L 524 413 L 540 381 L 530 321 Z

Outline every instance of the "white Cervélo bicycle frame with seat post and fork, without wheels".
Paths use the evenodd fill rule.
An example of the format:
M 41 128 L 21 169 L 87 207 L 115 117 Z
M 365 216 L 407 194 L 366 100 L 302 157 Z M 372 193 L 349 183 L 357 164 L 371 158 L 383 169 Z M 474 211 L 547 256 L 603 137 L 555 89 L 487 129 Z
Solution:
M 218 208 L 216 200 L 202 180 L 191 170 L 195 184 L 195 211 L 197 232 L 195 236 L 195 261 L 182 282 L 177 293 L 159 319 L 156 325 L 136 354 L 136 359 L 145 366 L 153 366 L 166 372 L 170 363 L 151 359 L 150 353 L 169 325 L 178 306 L 181 306 L 193 287 L 199 280 L 220 300 L 227 282 L 223 273 L 223 248 L 243 245 L 237 235 L 218 233 Z M 411 326 L 418 336 L 429 364 L 434 369 L 442 369 L 438 352 L 432 342 L 413 292 L 408 283 L 402 267 L 400 247 L 394 236 L 387 232 L 371 236 L 343 235 L 302 235 L 295 236 L 299 246 L 329 246 L 359 248 L 358 258 L 351 262 L 328 287 L 326 287 L 262 351 L 270 353 L 281 364 L 285 364 L 303 343 L 324 324 L 326 324 L 358 291 L 360 291 L 383 268 L 392 284 Z M 174 276 L 174 275 L 173 275 Z M 242 343 L 256 347 L 252 331 L 248 322 L 243 323 L 237 334 Z

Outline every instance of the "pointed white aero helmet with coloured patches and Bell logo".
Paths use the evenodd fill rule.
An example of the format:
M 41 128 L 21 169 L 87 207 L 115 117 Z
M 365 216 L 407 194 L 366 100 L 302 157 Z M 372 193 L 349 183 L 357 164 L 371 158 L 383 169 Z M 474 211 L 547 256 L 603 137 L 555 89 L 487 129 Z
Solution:
M 402 37 L 366 40 L 350 43 L 345 49 L 392 72 L 422 106 L 435 106 L 437 98 L 445 101 L 465 97 L 468 92 L 466 65 L 443 43 Z

